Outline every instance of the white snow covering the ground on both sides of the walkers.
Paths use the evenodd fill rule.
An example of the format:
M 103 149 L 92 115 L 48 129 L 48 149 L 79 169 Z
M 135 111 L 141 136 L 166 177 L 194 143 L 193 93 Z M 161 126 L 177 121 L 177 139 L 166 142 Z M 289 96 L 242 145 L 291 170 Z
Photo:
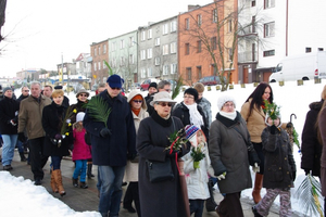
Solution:
M 297 86 L 297 81 L 285 82 L 284 87 L 279 87 L 278 84 L 271 84 L 274 92 L 274 102 L 281 106 L 281 120 L 287 123 L 290 120 L 291 114 L 297 115 L 297 119 L 293 117 L 292 123 L 299 133 L 299 141 L 301 141 L 301 132 L 305 120 L 305 114 L 309 111 L 309 104 L 321 100 L 321 92 L 324 85 L 326 85 L 326 80 L 322 80 L 322 84 L 314 84 L 313 80 L 309 80 L 304 81 L 303 86 Z M 204 98 L 212 104 L 212 116 L 214 118 L 218 112 L 216 105 L 220 95 L 233 95 L 236 99 L 237 110 L 240 111 L 241 105 L 253 90 L 254 87 L 252 84 L 246 85 L 246 88 L 235 85 L 233 90 L 226 92 L 216 91 L 215 87 L 212 87 L 211 91 L 206 90 L 204 92 Z M 147 91 L 141 93 L 143 97 L 147 95 Z M 20 97 L 21 92 L 18 89 L 15 90 L 15 94 Z M 90 95 L 93 94 L 95 92 L 90 92 Z M 68 98 L 71 104 L 76 103 L 75 93 L 71 92 Z M 183 101 L 183 91 L 180 91 L 180 94 L 175 100 L 177 102 Z M 294 146 L 294 159 L 297 164 L 297 179 L 294 188 L 291 190 L 292 209 L 303 213 L 298 200 L 293 199 L 297 188 L 305 178 L 304 171 L 300 168 L 301 156 L 298 153 L 297 146 Z M 252 178 L 254 179 L 253 173 Z M 35 187 L 30 180 L 24 180 L 24 177 L 13 177 L 8 171 L 0 171 L 0 192 L 1 213 L 5 213 L 8 216 L 100 216 L 97 212 L 75 212 L 60 200 L 49 194 L 43 187 Z M 263 193 L 265 191 L 263 190 Z M 241 196 L 251 200 L 251 189 L 243 191 Z M 278 199 L 276 199 L 275 205 L 279 205 Z

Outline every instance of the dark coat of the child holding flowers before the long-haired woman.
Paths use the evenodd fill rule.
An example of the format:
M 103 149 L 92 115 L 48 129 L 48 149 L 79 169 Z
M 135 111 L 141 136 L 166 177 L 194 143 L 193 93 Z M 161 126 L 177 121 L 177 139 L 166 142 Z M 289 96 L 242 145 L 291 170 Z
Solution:
M 292 174 L 297 168 L 288 133 L 279 128 L 272 135 L 271 127 L 266 127 L 262 132 L 262 143 L 265 156 L 263 187 L 281 190 L 293 188 Z

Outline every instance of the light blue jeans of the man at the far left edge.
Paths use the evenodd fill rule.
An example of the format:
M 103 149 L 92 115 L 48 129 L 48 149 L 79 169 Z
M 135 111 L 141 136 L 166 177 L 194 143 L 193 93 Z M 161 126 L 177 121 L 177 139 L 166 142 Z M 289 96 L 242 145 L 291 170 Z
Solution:
M 2 135 L 2 165 L 11 165 L 18 135 Z

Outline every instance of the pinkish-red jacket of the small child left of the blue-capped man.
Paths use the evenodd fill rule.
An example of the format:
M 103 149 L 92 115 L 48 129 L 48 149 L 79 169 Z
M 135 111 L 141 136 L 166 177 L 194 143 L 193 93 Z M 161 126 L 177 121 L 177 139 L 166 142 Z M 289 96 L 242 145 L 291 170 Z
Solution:
M 73 161 L 91 158 L 91 146 L 85 142 L 85 128 L 82 131 L 74 129 Z

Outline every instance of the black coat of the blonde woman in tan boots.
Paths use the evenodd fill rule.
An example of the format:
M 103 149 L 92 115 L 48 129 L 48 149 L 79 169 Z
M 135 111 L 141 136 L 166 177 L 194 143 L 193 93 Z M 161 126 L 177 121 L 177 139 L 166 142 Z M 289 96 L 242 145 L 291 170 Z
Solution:
M 54 102 L 43 108 L 42 127 L 46 131 L 43 155 L 46 156 L 70 155 L 68 149 L 74 143 L 72 127 L 70 127 L 70 135 L 62 139 L 60 148 L 51 142 L 51 139 L 54 139 L 55 135 L 61 135 L 61 127 L 66 115 L 66 110 L 65 105 L 58 106 Z

